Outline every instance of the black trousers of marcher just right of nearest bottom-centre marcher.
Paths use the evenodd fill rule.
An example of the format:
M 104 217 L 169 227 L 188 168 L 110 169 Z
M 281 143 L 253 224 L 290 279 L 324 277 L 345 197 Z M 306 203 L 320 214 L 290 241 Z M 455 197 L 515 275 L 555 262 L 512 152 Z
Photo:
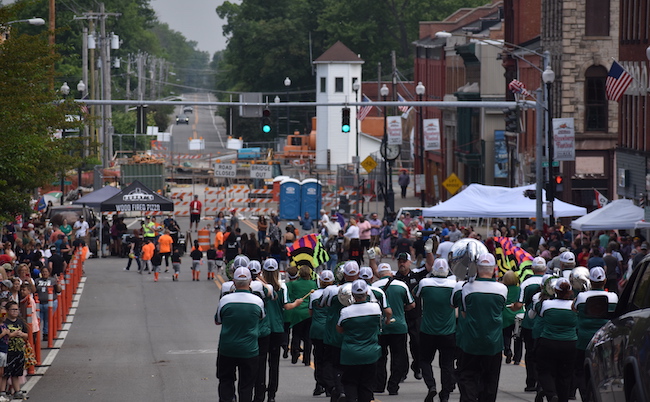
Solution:
M 381 346 L 381 357 L 377 360 L 375 391 L 383 392 L 384 387 L 387 387 L 388 392 L 396 392 L 399 390 L 399 383 L 409 370 L 406 334 L 380 335 L 379 345 Z M 390 377 L 388 377 L 388 385 L 386 385 L 388 349 L 390 349 Z

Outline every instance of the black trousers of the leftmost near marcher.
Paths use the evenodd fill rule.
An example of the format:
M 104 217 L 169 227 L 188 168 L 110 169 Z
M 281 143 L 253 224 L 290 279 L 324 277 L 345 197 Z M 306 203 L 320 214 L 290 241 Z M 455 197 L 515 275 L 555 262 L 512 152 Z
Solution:
M 237 393 L 239 402 L 252 402 L 253 386 L 257 374 L 258 356 L 249 358 L 217 355 L 219 402 L 232 402 L 235 397 L 235 379 L 239 371 Z

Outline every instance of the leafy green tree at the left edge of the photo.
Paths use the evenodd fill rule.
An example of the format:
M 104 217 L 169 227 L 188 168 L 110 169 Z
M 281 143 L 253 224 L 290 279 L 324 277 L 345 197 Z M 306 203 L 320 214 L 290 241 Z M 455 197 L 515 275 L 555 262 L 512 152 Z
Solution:
M 12 7 L 0 8 L 0 21 L 14 19 Z M 0 24 L 1 25 L 1 24 Z M 59 129 L 79 129 L 66 114 L 78 106 L 61 102 L 50 90 L 52 65 L 47 35 L 26 35 L 19 24 L 0 44 L 0 219 L 28 211 L 30 194 L 72 167 L 72 141 L 55 138 Z

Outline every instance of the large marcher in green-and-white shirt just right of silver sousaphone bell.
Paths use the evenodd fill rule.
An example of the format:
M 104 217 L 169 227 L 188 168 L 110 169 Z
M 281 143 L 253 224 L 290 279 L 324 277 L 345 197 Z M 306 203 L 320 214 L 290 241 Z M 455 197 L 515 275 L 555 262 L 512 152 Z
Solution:
M 462 401 L 494 402 L 501 373 L 503 331 L 501 314 L 508 289 L 494 279 L 494 256 L 481 254 L 477 277 L 460 290 L 463 315 L 458 346 L 458 388 Z

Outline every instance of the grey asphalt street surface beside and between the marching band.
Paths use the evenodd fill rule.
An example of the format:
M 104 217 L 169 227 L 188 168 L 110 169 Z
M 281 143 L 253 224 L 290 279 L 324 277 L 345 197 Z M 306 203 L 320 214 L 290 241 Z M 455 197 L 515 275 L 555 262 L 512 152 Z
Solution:
M 125 272 L 126 259 L 91 259 L 74 321 L 54 362 L 35 385 L 31 400 L 208 401 L 217 399 L 215 361 L 219 327 L 213 317 L 219 284 L 190 280 L 183 262 L 179 282 L 162 273 Z M 278 401 L 312 397 L 313 369 L 281 360 Z M 436 371 L 438 371 L 436 369 Z M 436 377 L 439 377 L 436 373 Z M 532 401 L 524 393 L 523 366 L 503 365 L 499 401 Z M 33 385 L 33 387 L 32 387 Z M 398 396 L 377 401 L 421 401 L 425 386 L 411 373 Z M 451 400 L 458 400 L 458 391 Z

